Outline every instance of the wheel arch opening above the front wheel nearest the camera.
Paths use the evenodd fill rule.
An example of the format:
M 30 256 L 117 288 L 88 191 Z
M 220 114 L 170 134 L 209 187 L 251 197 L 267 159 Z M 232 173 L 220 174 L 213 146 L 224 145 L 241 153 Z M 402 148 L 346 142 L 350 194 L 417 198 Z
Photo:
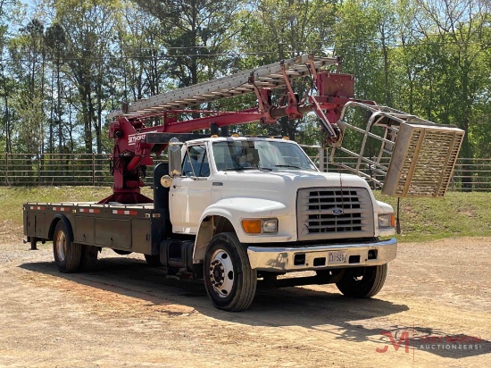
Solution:
M 203 219 L 196 235 L 193 263 L 201 263 L 204 261 L 206 247 L 208 247 L 212 238 L 221 232 L 237 233 L 232 222 L 224 216 L 209 215 Z

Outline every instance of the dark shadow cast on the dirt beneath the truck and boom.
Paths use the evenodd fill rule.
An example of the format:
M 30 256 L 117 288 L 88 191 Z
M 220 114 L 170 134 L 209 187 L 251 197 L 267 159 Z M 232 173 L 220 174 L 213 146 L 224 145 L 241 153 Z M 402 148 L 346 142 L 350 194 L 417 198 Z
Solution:
M 146 300 L 150 305 L 186 305 L 201 314 L 225 322 L 250 326 L 300 326 L 324 331 L 329 334 L 330 339 L 353 342 L 372 340 L 380 348 L 387 346 L 393 349 L 398 344 L 398 348 L 402 350 L 406 344 L 404 338 L 407 337 L 410 348 L 451 358 L 491 352 L 491 343 L 485 340 L 479 341 L 479 348 L 467 348 L 465 351 L 459 347 L 454 349 L 427 346 L 428 340 L 424 337 L 450 335 L 442 330 L 409 326 L 410 323 L 407 326 L 390 326 L 387 330 L 393 335 L 392 341 L 388 336 L 381 335 L 382 329 L 379 326 L 366 327 L 367 324 L 373 323 L 364 322 L 372 318 L 404 313 L 409 311 L 409 307 L 377 297 L 354 299 L 343 297 L 337 292 L 304 288 L 267 289 L 257 292 L 249 310 L 228 313 L 212 306 L 206 296 L 203 282 L 168 279 L 162 269 L 149 267 L 145 262 L 134 258 L 106 257 L 98 261 L 96 270 L 80 273 L 58 272 L 53 262 L 23 263 L 20 267 L 30 272 L 40 272 L 127 297 L 137 297 Z M 405 331 L 408 334 L 404 334 Z

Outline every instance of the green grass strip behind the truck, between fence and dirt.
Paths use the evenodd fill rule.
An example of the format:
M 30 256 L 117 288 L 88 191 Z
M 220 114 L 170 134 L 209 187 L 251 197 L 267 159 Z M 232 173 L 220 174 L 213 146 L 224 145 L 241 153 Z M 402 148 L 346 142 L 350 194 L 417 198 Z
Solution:
M 26 202 L 97 202 L 111 194 L 108 187 L 0 187 L 3 228 L 22 226 L 22 205 Z M 144 188 L 152 197 L 152 191 Z M 397 205 L 397 198 L 375 193 L 377 199 Z M 402 198 L 399 241 L 430 241 L 437 238 L 490 237 L 491 193 L 449 192 L 444 198 Z

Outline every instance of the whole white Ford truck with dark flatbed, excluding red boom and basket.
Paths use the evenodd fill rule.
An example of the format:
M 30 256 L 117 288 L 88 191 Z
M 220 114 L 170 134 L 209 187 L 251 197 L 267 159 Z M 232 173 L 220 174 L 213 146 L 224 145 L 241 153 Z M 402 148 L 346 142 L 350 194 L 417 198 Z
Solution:
M 320 172 L 278 138 L 171 143 L 170 156 L 171 175 L 156 169 L 164 170 L 154 188 L 160 203 L 28 203 L 26 235 L 53 239 L 62 272 L 90 268 L 99 247 L 143 252 L 169 274 L 203 278 L 213 305 L 228 311 L 251 305 L 258 279 L 281 286 L 275 279 L 287 272 L 316 276 L 284 285 L 335 282 L 349 297 L 382 288 L 397 243 L 379 237 L 395 233 L 394 211 L 365 180 Z

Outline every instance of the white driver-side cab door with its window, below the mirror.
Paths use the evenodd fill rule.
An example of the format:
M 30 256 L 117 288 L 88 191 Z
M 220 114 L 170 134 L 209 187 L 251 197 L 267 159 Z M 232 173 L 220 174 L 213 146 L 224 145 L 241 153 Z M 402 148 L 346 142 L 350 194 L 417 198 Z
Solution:
M 172 180 L 170 192 L 172 231 L 196 234 L 204 209 L 212 203 L 212 179 L 206 146 L 187 147 L 181 176 Z

